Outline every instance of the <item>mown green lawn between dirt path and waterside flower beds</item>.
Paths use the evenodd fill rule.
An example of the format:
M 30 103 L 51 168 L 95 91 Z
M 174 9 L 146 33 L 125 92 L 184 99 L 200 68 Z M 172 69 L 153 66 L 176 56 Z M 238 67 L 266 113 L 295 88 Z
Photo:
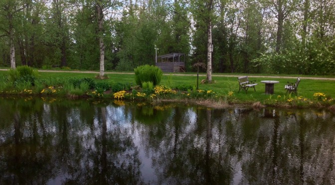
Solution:
M 0 80 L 3 80 L 6 78 L 6 71 L 0 71 Z M 50 79 L 50 78 L 92 78 L 95 79 L 95 77 L 99 73 L 70 73 L 70 72 L 39 72 L 39 79 Z M 204 75 L 204 74 L 202 74 Z M 287 82 L 295 82 L 296 79 L 292 79 L 292 77 L 297 76 L 284 76 L 280 75 L 278 77 L 281 78 L 268 78 L 264 74 L 249 74 L 250 76 L 264 76 L 264 77 L 253 77 L 249 78 L 249 80 L 256 80 L 256 83 L 258 84 L 256 86 L 256 92 L 254 92 L 253 89 L 249 89 L 248 93 L 241 91 L 238 92 L 239 85 L 237 77 L 230 77 L 230 76 L 223 76 L 226 74 L 213 74 L 212 84 L 201 84 L 200 81 L 205 79 L 205 76 L 199 77 L 199 89 L 200 90 L 211 90 L 221 96 L 228 96 L 229 92 L 233 92 L 232 98 L 234 98 L 235 103 L 246 103 L 246 104 L 252 104 L 256 101 L 269 101 L 273 99 L 279 99 L 281 97 L 282 101 L 285 101 L 289 98 L 289 95 L 286 94 L 286 90 L 284 90 L 284 86 L 287 84 Z M 238 74 L 228 74 L 233 76 L 239 76 Z M 245 75 L 245 74 L 240 74 Z M 106 82 L 106 83 L 135 83 L 135 74 L 129 72 L 126 72 L 126 74 L 107 74 L 109 79 L 105 80 L 98 80 L 95 79 L 96 82 Z M 275 75 L 269 75 L 269 76 L 275 76 Z M 276 75 L 277 77 L 277 75 Z M 301 77 L 309 77 L 309 76 L 301 76 Z M 313 76 L 315 77 L 315 76 Z M 324 76 L 323 76 L 324 77 Z M 326 78 L 333 78 L 327 76 Z M 279 81 L 278 84 L 274 85 L 274 94 L 268 95 L 265 94 L 265 84 L 261 83 L 263 80 L 274 80 Z M 177 86 L 190 86 L 190 87 L 196 87 L 197 84 L 197 77 L 196 75 L 187 75 L 184 76 L 180 75 L 172 75 L 172 74 L 164 74 L 162 77 L 161 85 L 165 85 L 167 87 L 170 87 L 174 89 Z M 314 93 L 316 92 L 322 92 L 326 95 L 328 99 L 335 98 L 335 81 L 331 80 L 313 80 L 313 79 L 301 79 L 301 82 L 298 87 L 298 97 L 302 98 L 308 98 L 313 99 Z M 292 97 L 296 97 L 295 94 L 291 95 Z M 290 96 L 290 97 L 291 97 Z

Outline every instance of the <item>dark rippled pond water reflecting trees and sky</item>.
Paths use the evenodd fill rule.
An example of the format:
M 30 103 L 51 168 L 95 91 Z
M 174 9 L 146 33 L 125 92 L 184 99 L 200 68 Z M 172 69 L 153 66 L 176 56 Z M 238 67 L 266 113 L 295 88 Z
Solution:
M 335 184 L 335 114 L 0 98 L 0 184 Z

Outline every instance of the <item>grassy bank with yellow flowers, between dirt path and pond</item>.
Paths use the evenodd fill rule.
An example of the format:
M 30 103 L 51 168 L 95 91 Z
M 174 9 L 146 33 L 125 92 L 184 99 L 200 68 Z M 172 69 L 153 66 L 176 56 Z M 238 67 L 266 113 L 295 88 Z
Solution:
M 106 80 L 97 80 L 95 76 L 98 73 L 69 73 L 69 72 L 39 72 L 38 79 L 41 81 L 54 81 L 51 79 L 58 79 L 61 81 L 66 82 L 66 79 L 80 79 L 80 78 L 91 78 L 94 79 L 96 83 L 103 83 L 103 84 L 132 84 L 135 86 L 135 75 L 134 74 L 107 74 L 109 79 Z M 165 74 L 162 78 L 161 84 L 170 88 L 172 90 L 176 90 L 174 94 L 164 94 L 162 96 L 151 96 L 151 94 L 155 94 L 155 92 L 142 92 L 141 89 L 136 89 L 131 92 L 128 90 L 129 99 L 149 99 L 153 101 L 163 100 L 163 99 L 174 99 L 177 101 L 204 101 L 209 100 L 210 102 L 220 102 L 221 104 L 252 104 L 254 102 L 261 102 L 263 105 L 274 105 L 274 106 L 330 106 L 335 104 L 335 81 L 333 80 L 323 80 L 323 79 L 307 79 L 311 76 L 301 76 L 301 82 L 298 87 L 298 94 L 286 94 L 284 90 L 284 86 L 287 82 L 295 82 L 296 76 L 274 76 L 274 75 L 264 75 L 264 74 L 252 74 L 249 76 L 257 76 L 257 77 L 250 77 L 250 80 L 256 80 L 258 85 L 256 86 L 256 92 L 253 89 L 249 89 L 248 93 L 246 92 L 239 92 L 239 85 L 238 85 L 238 76 L 236 74 L 213 74 L 213 83 L 212 84 L 201 84 L 200 81 L 205 79 L 205 74 L 201 74 L 202 76 L 199 77 L 199 90 L 200 92 L 195 91 L 194 87 L 196 86 L 196 76 L 194 74 L 186 74 L 181 76 L 180 74 L 173 75 L 173 74 Z M 224 76 L 223 76 L 224 75 Z M 243 75 L 243 74 L 239 74 Z M 267 76 L 271 76 L 267 77 Z M 16 92 L 9 91 L 8 89 L 3 88 L 3 82 L 5 82 L 7 78 L 6 71 L 0 71 L 0 79 L 2 81 L 2 86 L 0 86 L 0 92 L 2 94 L 15 94 L 15 93 L 22 93 L 23 88 L 21 87 L 20 91 L 16 88 Z M 318 77 L 315 77 L 318 78 Z M 323 77 L 323 78 L 334 78 L 334 77 Z M 264 93 L 265 91 L 265 84 L 261 83 L 260 81 L 263 80 L 274 80 L 279 81 L 278 84 L 275 84 L 274 87 L 274 94 L 267 95 Z M 51 83 L 51 82 L 50 82 Z M 54 86 L 52 84 L 48 84 L 44 86 Z M 2 90 L 1 90 L 2 87 Z M 27 90 L 32 91 L 34 95 L 44 95 L 41 94 L 41 91 L 34 91 L 35 87 L 27 88 Z M 40 87 L 41 88 L 41 87 Z M 43 89 L 48 87 L 43 87 Z M 15 87 L 13 87 L 15 89 Z M 85 88 L 84 88 L 85 89 Z M 177 90 L 179 89 L 179 90 Z M 187 91 L 188 90 L 188 91 Z M 60 90 L 59 90 L 60 91 Z M 82 93 L 76 93 L 76 90 L 71 90 L 74 95 L 82 95 Z M 87 90 L 85 90 L 87 91 Z M 104 98 L 112 98 L 114 99 L 115 96 L 113 95 L 115 92 L 109 90 L 107 91 L 110 94 L 104 95 Z M 207 93 L 209 92 L 209 93 Z M 24 93 L 24 92 L 23 92 Z M 61 96 L 69 96 L 70 92 L 62 92 L 54 95 L 61 95 Z M 137 95 L 137 93 L 140 93 Z M 141 94 L 142 93 L 142 94 Z M 144 95 L 145 93 L 145 95 Z M 52 95 L 50 93 L 46 95 Z M 85 95 L 94 96 L 92 91 Z M 157 94 L 156 94 L 157 95 Z M 158 94 L 159 95 L 159 94 Z M 71 95 L 70 95 L 71 96 Z M 74 97 L 74 96 L 72 96 Z M 96 97 L 96 96 L 94 96 Z M 100 96 L 101 98 L 101 96 Z M 116 99 L 124 99 L 118 98 Z

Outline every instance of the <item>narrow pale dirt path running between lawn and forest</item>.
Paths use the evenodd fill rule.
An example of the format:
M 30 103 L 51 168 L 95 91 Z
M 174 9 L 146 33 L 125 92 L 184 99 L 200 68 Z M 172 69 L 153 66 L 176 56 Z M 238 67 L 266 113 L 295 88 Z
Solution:
M 7 71 L 7 69 L 0 69 L 0 71 Z M 99 74 L 96 71 L 54 71 L 54 70 L 38 70 L 38 72 L 50 72 L 50 73 L 95 73 Z M 134 73 L 130 72 L 105 72 L 105 74 L 129 74 L 133 75 Z M 173 76 L 196 76 L 196 74 L 163 74 L 163 75 L 173 75 Z M 206 75 L 199 75 L 199 77 L 205 77 Z M 212 75 L 212 77 L 240 77 L 241 75 Z M 254 76 L 248 75 L 252 78 L 276 78 L 276 79 L 296 79 L 297 77 L 276 77 L 276 76 Z M 335 78 L 323 78 L 323 77 L 300 77 L 300 79 L 312 79 L 312 80 L 331 80 L 335 81 Z

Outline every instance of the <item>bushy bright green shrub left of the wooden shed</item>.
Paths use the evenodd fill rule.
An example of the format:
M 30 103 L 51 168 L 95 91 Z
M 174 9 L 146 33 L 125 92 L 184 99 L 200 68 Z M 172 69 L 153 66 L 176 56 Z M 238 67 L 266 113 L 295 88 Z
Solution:
M 153 82 L 154 86 L 161 83 L 163 72 L 157 66 L 144 65 L 139 66 L 135 70 L 136 84 L 142 86 L 143 82 Z

